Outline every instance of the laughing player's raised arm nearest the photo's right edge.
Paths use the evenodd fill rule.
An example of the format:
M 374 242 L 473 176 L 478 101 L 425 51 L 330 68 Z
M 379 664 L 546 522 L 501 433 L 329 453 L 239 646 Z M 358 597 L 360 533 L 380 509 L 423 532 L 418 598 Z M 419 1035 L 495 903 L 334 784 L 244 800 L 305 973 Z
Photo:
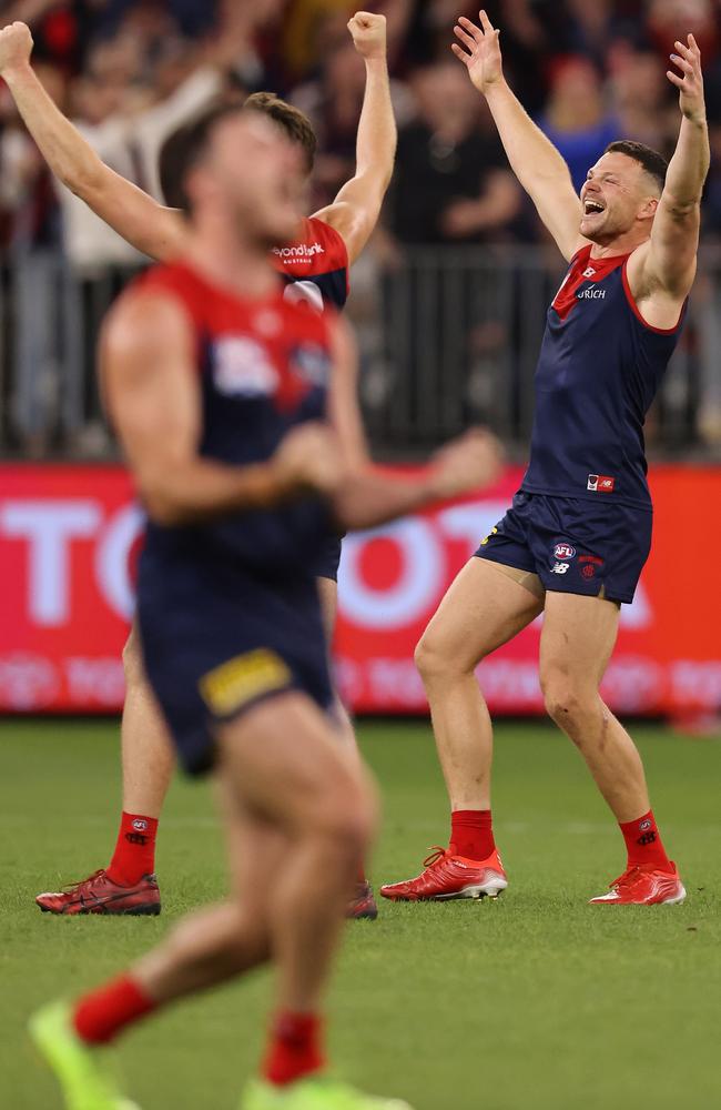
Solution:
M 703 100 L 701 53 L 692 34 L 676 42 L 671 54 L 680 74 L 667 77 L 679 90 L 681 128 L 666 184 L 656 210 L 651 238 L 629 260 L 628 275 L 644 319 L 659 327 L 673 326 L 678 310 L 695 275 L 701 225 L 701 193 L 709 172 L 709 130 Z M 671 312 L 667 315 L 664 310 Z

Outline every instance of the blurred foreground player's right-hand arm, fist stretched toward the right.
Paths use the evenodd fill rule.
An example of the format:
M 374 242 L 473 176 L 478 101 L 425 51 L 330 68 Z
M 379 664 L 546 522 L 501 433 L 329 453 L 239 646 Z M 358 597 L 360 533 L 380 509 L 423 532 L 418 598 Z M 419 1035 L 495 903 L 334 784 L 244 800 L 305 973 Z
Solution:
M 488 485 L 498 477 L 501 450 L 488 432 L 473 431 L 443 447 L 419 473 L 390 473 L 368 455 L 358 408 L 357 355 L 344 320 L 335 325 L 328 418 L 341 445 L 344 477 L 332 504 L 346 528 L 369 528 L 434 502 Z

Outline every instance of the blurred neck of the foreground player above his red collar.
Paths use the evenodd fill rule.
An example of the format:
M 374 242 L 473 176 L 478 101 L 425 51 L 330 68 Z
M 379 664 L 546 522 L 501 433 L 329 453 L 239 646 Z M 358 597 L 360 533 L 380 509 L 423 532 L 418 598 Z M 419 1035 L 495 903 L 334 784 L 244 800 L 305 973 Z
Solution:
M 227 229 L 206 226 L 191 236 L 185 258 L 213 284 L 232 290 L 238 296 L 268 296 L 277 276 L 265 244 L 229 234 Z

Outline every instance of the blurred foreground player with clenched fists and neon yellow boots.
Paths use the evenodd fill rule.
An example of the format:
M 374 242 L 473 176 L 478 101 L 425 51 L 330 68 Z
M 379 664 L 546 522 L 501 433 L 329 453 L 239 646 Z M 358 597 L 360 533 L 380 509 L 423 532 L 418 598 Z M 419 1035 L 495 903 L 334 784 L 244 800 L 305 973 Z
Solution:
M 481 433 L 415 478 L 358 467 L 348 330 L 284 299 L 270 262 L 296 231 L 297 148 L 242 108 L 205 113 L 189 142 L 184 254 L 120 297 L 101 361 L 150 518 L 144 662 L 183 766 L 215 771 L 233 892 L 31 1032 L 69 1110 L 129 1110 L 102 1046 L 273 962 L 277 1009 L 244 1110 L 392 1110 L 405 1103 L 323 1076 L 323 999 L 375 804 L 335 740 L 309 567 L 333 521 L 366 527 L 459 493 L 495 475 L 498 451 Z

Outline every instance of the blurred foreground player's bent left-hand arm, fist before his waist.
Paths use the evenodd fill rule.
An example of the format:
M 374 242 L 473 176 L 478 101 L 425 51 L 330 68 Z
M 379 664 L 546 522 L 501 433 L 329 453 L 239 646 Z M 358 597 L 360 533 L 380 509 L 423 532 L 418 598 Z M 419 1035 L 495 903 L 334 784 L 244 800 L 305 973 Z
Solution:
M 194 524 L 333 492 L 341 460 L 321 424 L 294 430 L 265 463 L 231 466 L 201 456 L 194 363 L 190 322 L 171 296 L 131 293 L 111 310 L 101 343 L 104 395 L 152 519 Z

